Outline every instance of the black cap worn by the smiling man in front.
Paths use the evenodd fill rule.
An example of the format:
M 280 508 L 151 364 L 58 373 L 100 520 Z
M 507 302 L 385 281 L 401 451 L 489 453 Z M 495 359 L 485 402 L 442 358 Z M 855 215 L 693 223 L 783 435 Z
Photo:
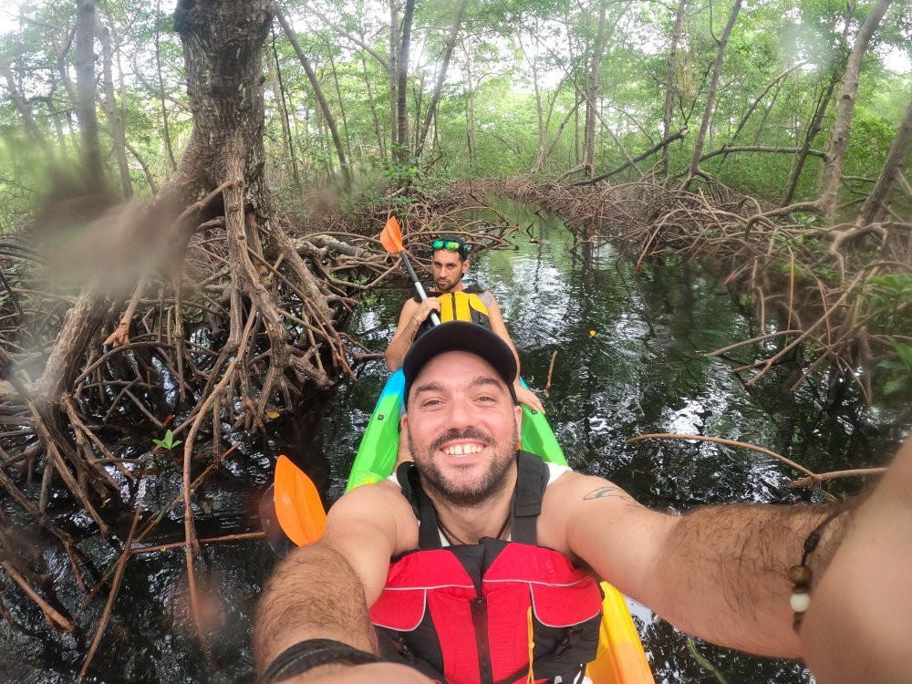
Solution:
M 411 346 L 402 363 L 405 374 L 405 400 L 409 400 L 411 383 L 431 358 L 448 351 L 467 351 L 483 358 L 503 378 L 513 394 L 516 358 L 513 349 L 489 328 L 466 321 L 450 321 L 434 326 Z

